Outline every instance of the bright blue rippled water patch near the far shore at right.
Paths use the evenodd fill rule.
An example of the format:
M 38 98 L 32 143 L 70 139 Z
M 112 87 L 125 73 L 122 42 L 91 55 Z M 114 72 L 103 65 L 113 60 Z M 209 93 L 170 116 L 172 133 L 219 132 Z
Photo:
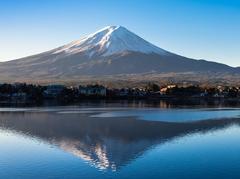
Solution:
M 132 109 L 110 111 L 92 115 L 92 117 L 131 117 L 150 121 L 184 122 L 207 119 L 238 118 L 240 109 Z

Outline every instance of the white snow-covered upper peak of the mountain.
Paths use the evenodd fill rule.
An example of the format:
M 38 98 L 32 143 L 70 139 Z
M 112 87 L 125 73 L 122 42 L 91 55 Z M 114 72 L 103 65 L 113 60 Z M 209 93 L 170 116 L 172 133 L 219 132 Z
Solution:
M 61 52 L 67 54 L 85 53 L 85 55 L 91 57 L 93 55 L 110 56 L 126 51 L 161 55 L 168 53 L 122 26 L 107 26 L 81 40 L 58 48 L 54 51 L 54 54 Z

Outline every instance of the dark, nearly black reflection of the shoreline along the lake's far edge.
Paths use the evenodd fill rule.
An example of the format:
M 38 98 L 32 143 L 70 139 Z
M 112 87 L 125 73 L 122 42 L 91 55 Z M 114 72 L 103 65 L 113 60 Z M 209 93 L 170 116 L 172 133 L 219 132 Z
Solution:
M 0 102 L 0 107 L 55 107 L 55 106 L 95 106 L 95 107 L 155 107 L 155 108 L 209 108 L 209 107 L 239 107 L 240 100 L 237 99 L 200 99 L 200 98 L 171 98 L 151 100 L 81 100 L 79 103 L 68 104 L 56 100 L 45 100 L 40 104 L 32 103 L 5 103 Z

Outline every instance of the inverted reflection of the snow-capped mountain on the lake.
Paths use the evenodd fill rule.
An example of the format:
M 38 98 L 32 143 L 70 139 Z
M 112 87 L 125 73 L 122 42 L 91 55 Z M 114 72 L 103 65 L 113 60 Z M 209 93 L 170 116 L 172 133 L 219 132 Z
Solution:
M 211 132 L 238 119 L 189 123 L 129 118 L 92 118 L 89 114 L 56 112 L 2 112 L 0 127 L 41 139 L 88 161 L 99 169 L 118 170 L 155 145 L 193 133 Z

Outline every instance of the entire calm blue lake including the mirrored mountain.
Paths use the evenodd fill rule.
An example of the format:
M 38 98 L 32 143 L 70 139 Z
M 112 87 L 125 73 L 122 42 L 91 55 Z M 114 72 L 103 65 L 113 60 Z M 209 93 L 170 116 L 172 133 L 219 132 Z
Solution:
M 0 178 L 240 178 L 240 109 L 0 108 Z

